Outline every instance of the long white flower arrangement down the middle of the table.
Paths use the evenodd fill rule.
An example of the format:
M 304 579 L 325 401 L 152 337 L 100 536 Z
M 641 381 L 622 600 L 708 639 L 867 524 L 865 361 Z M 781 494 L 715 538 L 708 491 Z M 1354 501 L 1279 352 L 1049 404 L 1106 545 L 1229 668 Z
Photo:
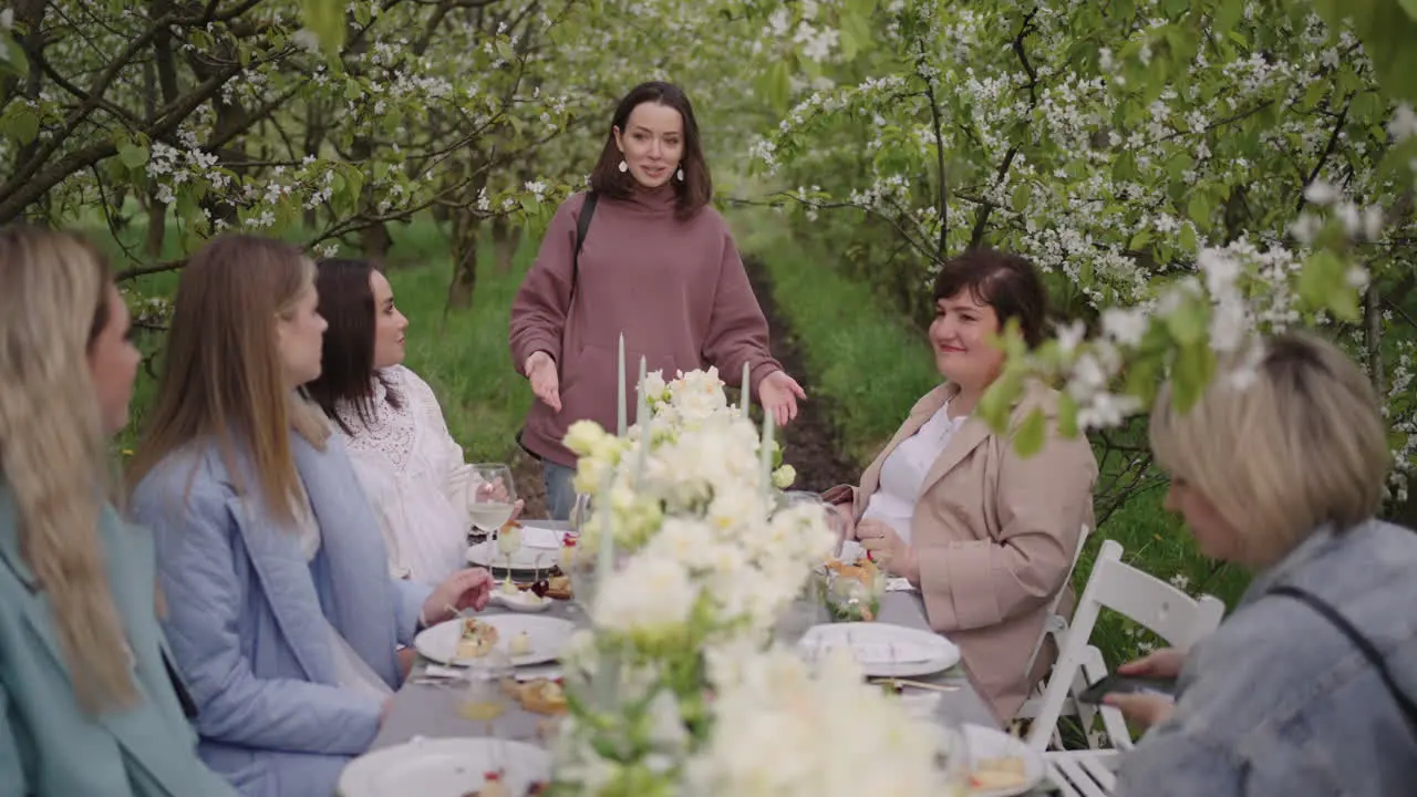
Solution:
M 615 438 L 575 424 L 565 438 L 577 489 L 598 496 L 577 549 L 614 572 L 597 576 L 592 631 L 563 657 L 555 793 L 938 793 L 931 729 L 853 661 L 813 672 L 769 648 L 836 542 L 823 508 L 781 501 L 791 468 L 768 484 L 778 451 L 713 369 L 642 389 L 643 427 Z

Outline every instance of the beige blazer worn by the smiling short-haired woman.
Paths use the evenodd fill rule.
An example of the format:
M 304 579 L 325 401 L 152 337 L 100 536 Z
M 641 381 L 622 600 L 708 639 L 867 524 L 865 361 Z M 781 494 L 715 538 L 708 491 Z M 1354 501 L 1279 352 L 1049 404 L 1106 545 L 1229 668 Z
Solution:
M 880 484 L 886 457 L 956 391 L 947 383 L 915 403 L 850 491 L 856 519 Z M 1047 441 L 1029 458 L 971 416 L 925 475 L 911 520 L 930 625 L 959 647 L 969 679 L 1000 723 L 1013 719 L 1051 665 L 1056 654 L 1044 650 L 1024 672 L 1049 601 L 1067 587 L 1081 529 L 1093 525 L 1097 458 L 1085 435 L 1057 434 L 1057 398 L 1056 390 L 1030 384 L 1013 410 L 1012 424 L 1034 407 L 1049 418 Z

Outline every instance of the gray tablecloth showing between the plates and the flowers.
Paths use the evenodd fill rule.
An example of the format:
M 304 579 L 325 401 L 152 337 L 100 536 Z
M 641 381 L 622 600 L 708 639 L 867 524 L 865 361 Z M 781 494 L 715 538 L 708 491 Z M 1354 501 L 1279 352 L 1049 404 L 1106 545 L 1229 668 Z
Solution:
M 499 611 L 502 610 L 493 607 L 487 608 L 489 614 Z M 547 614 L 551 614 L 553 617 L 564 617 L 577 624 L 584 621 L 584 614 L 578 608 L 563 601 L 557 601 L 547 610 Z M 884 600 L 881 601 L 881 615 L 879 621 L 894 623 L 908 628 L 928 630 L 928 624 L 925 623 L 925 608 L 921 604 L 920 596 L 915 593 L 886 593 Z M 419 676 L 427 664 L 419 661 L 414 667 L 410 682 L 405 684 L 404 688 L 395 695 L 388 720 L 384 723 L 383 730 L 380 730 L 378 737 L 374 739 L 373 749 L 377 750 L 391 745 L 401 745 L 414 736 L 489 735 L 489 723 L 468 720 L 458 715 L 458 688 L 412 682 Z M 952 688 L 951 691 L 939 695 L 937 712 L 942 719 L 951 718 L 958 722 L 998 728 L 993 715 L 989 713 L 989 709 L 979 698 L 979 693 L 975 692 L 973 686 L 958 668 L 932 676 L 918 678 L 917 681 L 941 684 Z M 915 689 L 907 688 L 907 692 L 911 691 Z M 506 713 L 492 722 L 490 730 L 502 739 L 537 742 L 537 723 L 544 719 L 546 718 L 543 715 L 530 713 L 513 703 Z

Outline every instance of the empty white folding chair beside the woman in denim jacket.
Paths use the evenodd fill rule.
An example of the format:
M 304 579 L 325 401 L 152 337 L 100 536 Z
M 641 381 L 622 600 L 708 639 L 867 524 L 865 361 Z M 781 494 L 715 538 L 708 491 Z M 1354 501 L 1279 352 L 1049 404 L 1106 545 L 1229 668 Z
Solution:
M 1122 563 L 1122 546 L 1117 540 L 1104 542 L 1077 611 L 1073 613 L 1067 641 L 1053 665 L 1049 685 L 1043 689 L 1039 715 L 1029 729 L 1027 742 L 1034 750 L 1047 749 L 1064 702 L 1068 696 L 1076 696 L 1076 685 L 1097 681 L 1107 674 L 1097 648 L 1088 645 L 1102 608 L 1131 618 L 1168 645 L 1180 650 L 1190 648 L 1214 631 L 1226 611 L 1219 598 L 1192 598 L 1166 581 Z M 1119 750 L 1131 749 L 1132 737 L 1121 712 L 1101 706 L 1101 715 L 1112 746 Z

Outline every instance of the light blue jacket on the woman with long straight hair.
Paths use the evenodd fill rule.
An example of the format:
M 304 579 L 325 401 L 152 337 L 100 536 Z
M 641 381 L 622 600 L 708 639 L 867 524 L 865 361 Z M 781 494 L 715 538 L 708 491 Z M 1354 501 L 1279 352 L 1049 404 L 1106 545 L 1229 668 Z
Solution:
M 320 525 L 306 562 L 293 529 L 265 516 L 248 458 L 238 496 L 214 441 L 159 464 L 135 489 L 133 516 L 157 540 L 164 621 L 200 709 L 198 752 L 249 797 L 334 791 L 378 732 L 381 702 L 337 686 L 326 618 L 391 688 L 431 587 L 388 574 L 374 513 L 339 435 L 319 451 L 290 434 Z

